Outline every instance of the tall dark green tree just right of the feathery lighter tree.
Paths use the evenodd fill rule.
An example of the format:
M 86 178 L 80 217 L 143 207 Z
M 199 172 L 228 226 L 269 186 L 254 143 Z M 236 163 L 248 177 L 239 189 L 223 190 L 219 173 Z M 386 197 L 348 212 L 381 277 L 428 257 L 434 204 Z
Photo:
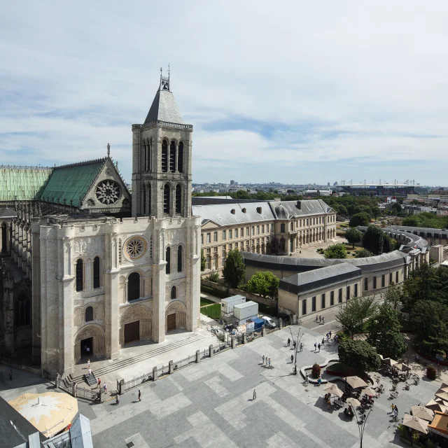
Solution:
M 384 358 L 397 359 L 407 348 L 400 328 L 398 311 L 395 311 L 388 303 L 384 303 L 369 321 L 367 342 L 374 346 Z

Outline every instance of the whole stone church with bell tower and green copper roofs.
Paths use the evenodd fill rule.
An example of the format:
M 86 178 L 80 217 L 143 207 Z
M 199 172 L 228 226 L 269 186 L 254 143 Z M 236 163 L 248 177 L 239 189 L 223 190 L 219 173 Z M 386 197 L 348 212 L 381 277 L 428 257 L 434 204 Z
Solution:
M 100 160 L 2 167 L 0 203 L 17 214 L 1 220 L 12 255 L 1 266 L 3 353 L 31 345 L 42 370 L 67 374 L 83 356 L 115 358 L 136 339 L 197 328 L 192 134 L 161 76 L 146 120 L 132 125 L 132 201 L 109 145 Z

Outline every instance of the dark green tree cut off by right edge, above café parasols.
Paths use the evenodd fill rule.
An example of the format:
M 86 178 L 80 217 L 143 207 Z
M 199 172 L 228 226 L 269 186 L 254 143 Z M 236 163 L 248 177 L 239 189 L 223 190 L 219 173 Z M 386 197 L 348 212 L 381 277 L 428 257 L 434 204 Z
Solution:
M 448 349 L 448 307 L 445 304 L 419 300 L 410 320 L 421 351 L 434 356 Z

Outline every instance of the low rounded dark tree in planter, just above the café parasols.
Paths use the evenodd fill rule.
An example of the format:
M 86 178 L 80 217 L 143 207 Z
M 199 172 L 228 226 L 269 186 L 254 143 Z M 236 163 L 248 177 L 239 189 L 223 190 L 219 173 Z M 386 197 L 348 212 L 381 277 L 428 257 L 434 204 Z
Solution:
M 377 351 L 366 341 L 342 339 L 338 347 L 339 361 L 364 374 L 381 365 Z

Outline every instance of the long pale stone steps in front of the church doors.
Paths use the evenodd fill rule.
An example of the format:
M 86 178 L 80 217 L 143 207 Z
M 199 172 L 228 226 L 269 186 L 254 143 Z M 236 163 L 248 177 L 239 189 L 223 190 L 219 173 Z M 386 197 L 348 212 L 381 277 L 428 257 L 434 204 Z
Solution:
M 94 378 L 102 377 L 105 374 L 109 374 L 109 373 L 115 372 L 116 370 L 119 370 L 123 367 L 128 367 L 132 364 L 139 363 L 142 360 L 153 358 L 154 356 L 161 355 L 162 353 L 167 353 L 168 351 L 171 351 L 174 349 L 179 349 L 179 347 L 181 347 L 181 346 L 191 344 L 191 342 L 196 342 L 196 341 L 199 341 L 200 339 L 204 339 L 204 336 L 200 335 L 200 334 L 195 334 L 192 337 L 187 337 L 186 339 L 181 339 L 180 341 L 173 342 L 172 344 L 167 344 L 165 346 L 161 346 L 158 349 L 148 351 L 147 353 L 143 353 L 142 355 L 139 355 L 139 356 L 133 356 L 132 358 L 122 358 L 120 360 L 112 362 L 109 365 L 106 365 L 104 367 L 100 367 L 99 369 L 96 369 L 94 372 L 92 372 L 91 376 Z M 188 354 L 188 356 L 191 356 L 194 353 L 187 353 L 187 354 Z M 174 359 L 174 361 L 176 362 L 177 359 Z M 94 384 L 97 384 L 96 378 L 95 378 Z M 73 376 L 72 374 L 69 374 L 69 375 L 67 375 L 66 379 L 70 383 L 73 383 L 73 382 L 80 383 L 82 381 L 87 381 L 86 375 L 84 373 L 78 374 L 75 376 Z

